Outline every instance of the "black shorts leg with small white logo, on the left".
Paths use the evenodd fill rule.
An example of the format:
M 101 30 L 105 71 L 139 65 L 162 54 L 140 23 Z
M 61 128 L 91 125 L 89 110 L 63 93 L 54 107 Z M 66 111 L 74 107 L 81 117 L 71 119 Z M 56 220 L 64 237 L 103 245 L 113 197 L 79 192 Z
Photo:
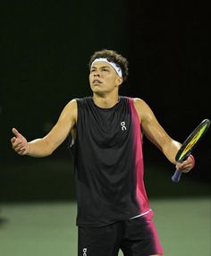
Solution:
M 122 223 L 78 229 L 78 256 L 117 256 L 122 238 Z

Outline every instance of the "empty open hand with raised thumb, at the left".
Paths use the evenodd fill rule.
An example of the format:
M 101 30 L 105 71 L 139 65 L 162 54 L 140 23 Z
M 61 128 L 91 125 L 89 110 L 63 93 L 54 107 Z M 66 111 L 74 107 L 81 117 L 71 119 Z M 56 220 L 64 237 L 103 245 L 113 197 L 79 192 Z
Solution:
M 13 128 L 12 131 L 14 134 L 14 137 L 11 139 L 13 149 L 21 156 L 27 155 L 29 153 L 28 141 L 21 135 L 20 132 L 18 132 L 17 129 Z

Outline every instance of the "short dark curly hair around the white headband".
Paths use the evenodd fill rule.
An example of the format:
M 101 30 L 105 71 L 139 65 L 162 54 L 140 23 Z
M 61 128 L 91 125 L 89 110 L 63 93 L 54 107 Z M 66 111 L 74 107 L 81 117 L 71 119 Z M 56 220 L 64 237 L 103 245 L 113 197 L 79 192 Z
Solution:
M 89 69 L 91 68 L 91 64 L 97 58 L 106 58 L 109 62 L 114 62 L 117 66 L 119 66 L 122 70 L 122 79 L 125 81 L 128 76 L 128 60 L 122 55 L 118 54 L 114 50 L 103 49 L 101 51 L 97 51 L 90 57 L 89 60 Z

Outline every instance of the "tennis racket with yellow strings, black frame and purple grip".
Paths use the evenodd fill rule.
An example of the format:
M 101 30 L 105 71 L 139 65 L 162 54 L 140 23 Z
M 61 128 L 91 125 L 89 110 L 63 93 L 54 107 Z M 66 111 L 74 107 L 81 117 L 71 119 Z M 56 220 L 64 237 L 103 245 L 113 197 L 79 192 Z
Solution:
M 176 162 L 181 163 L 190 156 L 193 149 L 195 149 L 195 147 L 198 145 L 198 142 L 207 132 L 209 125 L 210 120 L 208 119 L 205 119 L 200 124 L 198 124 L 196 129 L 193 132 L 191 132 L 189 137 L 183 142 L 183 144 L 181 145 L 181 149 L 178 150 L 175 157 Z M 172 176 L 173 183 L 178 183 L 180 181 L 181 174 L 182 172 L 180 170 L 175 170 Z

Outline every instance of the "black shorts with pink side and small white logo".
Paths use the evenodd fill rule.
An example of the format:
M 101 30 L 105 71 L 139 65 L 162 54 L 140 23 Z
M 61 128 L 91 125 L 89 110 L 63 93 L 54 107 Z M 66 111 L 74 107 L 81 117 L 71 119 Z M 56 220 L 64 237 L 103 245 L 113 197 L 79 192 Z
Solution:
M 78 256 L 149 256 L 163 254 L 153 212 L 109 226 L 79 227 Z

